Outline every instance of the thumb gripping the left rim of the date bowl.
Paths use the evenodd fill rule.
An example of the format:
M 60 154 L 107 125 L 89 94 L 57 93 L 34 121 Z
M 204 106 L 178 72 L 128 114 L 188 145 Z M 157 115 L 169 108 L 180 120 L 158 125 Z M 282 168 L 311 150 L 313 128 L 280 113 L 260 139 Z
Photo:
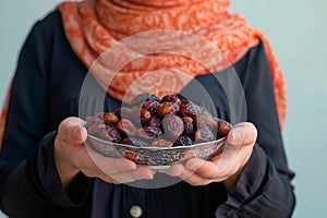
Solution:
M 64 119 L 58 128 L 58 137 L 73 145 L 84 143 L 87 131 L 82 125 L 83 122 L 82 119 L 75 117 Z

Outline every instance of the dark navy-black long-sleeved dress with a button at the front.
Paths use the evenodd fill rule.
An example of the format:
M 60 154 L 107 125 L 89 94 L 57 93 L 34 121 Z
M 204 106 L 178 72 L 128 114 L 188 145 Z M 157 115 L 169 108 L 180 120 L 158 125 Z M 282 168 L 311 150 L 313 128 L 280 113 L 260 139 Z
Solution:
M 246 120 L 256 125 L 258 138 L 230 193 L 221 183 L 191 186 L 179 182 L 161 189 L 137 189 L 82 173 L 64 190 L 53 160 L 53 140 L 64 118 L 78 116 L 87 69 L 64 36 L 60 13 L 50 13 L 33 27 L 20 55 L 0 157 L 1 209 L 10 217 L 24 218 L 123 218 L 131 217 L 133 205 L 143 209 L 142 217 L 150 218 L 290 217 L 295 202 L 290 183 L 294 174 L 287 165 L 263 45 L 252 48 L 233 69 L 245 90 Z M 221 84 L 211 80 L 228 78 L 229 71 L 195 80 L 214 99 L 217 116 L 238 122 L 238 116 L 231 119 Z M 183 92 L 190 94 L 191 87 L 192 83 Z M 120 104 L 106 97 L 109 111 Z

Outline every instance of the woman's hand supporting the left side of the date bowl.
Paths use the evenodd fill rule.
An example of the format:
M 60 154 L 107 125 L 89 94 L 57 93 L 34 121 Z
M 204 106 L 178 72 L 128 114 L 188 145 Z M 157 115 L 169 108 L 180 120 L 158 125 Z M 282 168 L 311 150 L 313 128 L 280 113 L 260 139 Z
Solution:
M 155 172 L 152 169 L 136 167 L 132 160 L 105 157 L 86 149 L 84 142 L 87 132 L 81 123 L 82 120 L 73 117 L 63 120 L 55 140 L 55 161 L 64 187 L 80 171 L 86 177 L 99 178 L 114 184 L 154 178 Z

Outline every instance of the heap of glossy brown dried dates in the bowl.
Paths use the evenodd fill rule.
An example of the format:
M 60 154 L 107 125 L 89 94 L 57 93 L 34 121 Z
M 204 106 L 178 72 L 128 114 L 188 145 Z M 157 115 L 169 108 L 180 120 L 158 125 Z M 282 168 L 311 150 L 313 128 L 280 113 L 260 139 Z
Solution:
M 93 136 L 137 147 L 189 146 L 225 137 L 231 130 L 191 100 L 152 94 L 136 96 L 131 107 L 87 117 L 86 126 Z

